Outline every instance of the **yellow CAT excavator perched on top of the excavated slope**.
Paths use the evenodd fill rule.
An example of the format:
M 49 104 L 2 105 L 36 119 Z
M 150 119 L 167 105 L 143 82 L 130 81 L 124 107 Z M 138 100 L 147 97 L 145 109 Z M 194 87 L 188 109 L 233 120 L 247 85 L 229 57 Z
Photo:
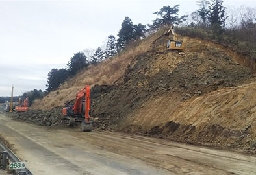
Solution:
M 164 36 L 168 36 L 168 38 L 166 40 L 168 49 L 173 50 L 173 51 L 183 52 L 183 50 L 184 50 L 183 42 L 178 41 L 178 37 L 174 30 L 173 25 L 171 25 L 169 30 L 166 30 L 164 32 Z

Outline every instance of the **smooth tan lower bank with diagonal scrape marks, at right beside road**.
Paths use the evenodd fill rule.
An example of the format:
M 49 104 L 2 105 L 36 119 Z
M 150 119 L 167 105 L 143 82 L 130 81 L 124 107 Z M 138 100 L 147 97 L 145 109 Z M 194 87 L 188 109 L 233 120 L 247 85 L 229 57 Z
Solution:
M 139 129 L 142 134 L 175 141 L 255 150 L 255 85 L 252 82 L 220 89 L 192 97 L 176 107 L 170 103 L 172 97 L 157 97 L 127 117 L 122 130 Z M 152 110 L 152 106 L 158 109 Z

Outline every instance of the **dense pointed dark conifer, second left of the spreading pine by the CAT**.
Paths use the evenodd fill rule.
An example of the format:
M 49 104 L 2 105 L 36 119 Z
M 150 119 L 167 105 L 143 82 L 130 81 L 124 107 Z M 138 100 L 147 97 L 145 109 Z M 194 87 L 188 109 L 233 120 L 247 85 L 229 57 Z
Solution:
M 131 21 L 129 17 L 125 17 L 121 26 L 122 27 L 118 32 L 119 38 L 117 43 L 119 51 L 122 50 L 129 41 L 131 41 L 134 34 L 133 21 Z

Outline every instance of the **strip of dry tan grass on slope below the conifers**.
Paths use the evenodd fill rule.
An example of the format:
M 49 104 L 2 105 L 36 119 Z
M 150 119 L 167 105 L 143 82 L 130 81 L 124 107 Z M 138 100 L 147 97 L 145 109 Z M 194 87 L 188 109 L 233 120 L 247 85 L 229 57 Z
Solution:
M 109 58 L 98 65 L 90 65 L 76 76 L 70 78 L 56 91 L 49 93 L 43 99 L 35 100 L 32 109 L 51 110 L 57 106 L 64 106 L 66 101 L 73 100 L 76 93 L 88 84 L 113 84 L 125 73 L 127 65 L 139 54 L 151 49 L 151 44 L 163 34 L 161 29 L 144 40 L 131 43 L 124 51 L 114 58 Z

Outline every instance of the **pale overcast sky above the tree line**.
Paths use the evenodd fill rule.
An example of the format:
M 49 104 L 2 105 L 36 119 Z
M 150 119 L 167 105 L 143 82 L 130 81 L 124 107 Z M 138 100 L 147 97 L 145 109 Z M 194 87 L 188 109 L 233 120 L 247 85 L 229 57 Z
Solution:
M 105 45 L 125 16 L 151 23 L 162 6 L 180 5 L 179 16 L 198 9 L 196 0 L 0 0 L 0 96 L 45 90 L 47 74 L 64 68 L 74 53 Z M 225 6 L 256 7 L 255 0 L 224 0 Z

